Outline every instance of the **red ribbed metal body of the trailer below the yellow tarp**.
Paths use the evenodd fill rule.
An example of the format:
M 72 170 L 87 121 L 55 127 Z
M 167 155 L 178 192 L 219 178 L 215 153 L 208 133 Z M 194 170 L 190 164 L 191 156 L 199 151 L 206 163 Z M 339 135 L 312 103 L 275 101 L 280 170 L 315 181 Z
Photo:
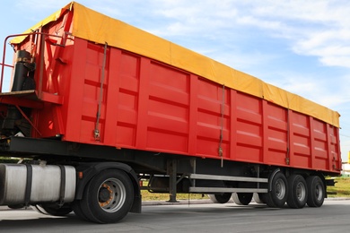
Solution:
M 67 11 L 57 23 L 70 22 L 63 20 L 69 13 L 76 12 Z M 20 47 L 28 47 L 26 43 L 30 41 Z M 275 103 L 78 37 L 67 40 L 66 47 L 47 41 L 45 52 L 43 93 L 61 100 L 34 111 L 41 133 L 34 136 L 62 134 L 69 142 L 339 173 L 339 129 L 281 106 L 279 101 L 288 98 Z M 241 81 L 242 86 L 249 83 L 258 82 Z M 292 96 L 277 88 L 269 91 L 271 96 Z

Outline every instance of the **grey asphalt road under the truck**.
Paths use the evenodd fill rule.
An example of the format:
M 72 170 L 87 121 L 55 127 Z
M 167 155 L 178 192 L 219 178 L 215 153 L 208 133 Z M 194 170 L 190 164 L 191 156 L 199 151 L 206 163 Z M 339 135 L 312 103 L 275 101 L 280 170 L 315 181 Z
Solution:
M 326 200 L 321 208 L 273 209 L 251 203 L 143 206 L 116 224 L 52 217 L 32 210 L 0 211 L 0 232 L 349 232 L 350 200 Z

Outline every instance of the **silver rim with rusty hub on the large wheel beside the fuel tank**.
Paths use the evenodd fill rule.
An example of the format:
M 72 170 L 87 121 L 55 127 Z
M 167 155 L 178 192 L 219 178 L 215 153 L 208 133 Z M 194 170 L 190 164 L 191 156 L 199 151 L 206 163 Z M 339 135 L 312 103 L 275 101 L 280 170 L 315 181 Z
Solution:
M 106 212 L 118 211 L 126 201 L 126 188 L 117 178 L 106 179 L 97 192 L 100 207 Z

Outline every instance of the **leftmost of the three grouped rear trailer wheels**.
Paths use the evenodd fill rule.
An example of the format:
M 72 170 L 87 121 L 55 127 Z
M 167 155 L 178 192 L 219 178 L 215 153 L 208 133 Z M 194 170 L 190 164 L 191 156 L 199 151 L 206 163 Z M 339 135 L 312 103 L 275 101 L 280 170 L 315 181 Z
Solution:
M 281 171 L 271 180 L 271 190 L 264 195 L 264 201 L 269 207 L 282 208 L 288 197 L 288 182 Z

